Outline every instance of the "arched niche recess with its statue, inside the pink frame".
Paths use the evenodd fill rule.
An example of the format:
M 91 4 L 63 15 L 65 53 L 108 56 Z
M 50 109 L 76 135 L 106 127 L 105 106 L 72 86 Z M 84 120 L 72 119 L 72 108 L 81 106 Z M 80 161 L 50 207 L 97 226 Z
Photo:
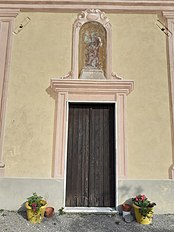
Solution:
M 106 57 L 106 29 L 99 22 L 91 21 L 84 23 L 79 31 L 79 77 L 83 78 L 85 70 L 94 73 L 98 70 L 105 78 Z

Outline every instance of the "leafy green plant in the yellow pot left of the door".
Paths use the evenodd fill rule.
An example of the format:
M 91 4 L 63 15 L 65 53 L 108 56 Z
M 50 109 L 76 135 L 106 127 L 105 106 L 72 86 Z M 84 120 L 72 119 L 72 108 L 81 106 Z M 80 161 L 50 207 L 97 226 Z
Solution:
M 41 206 L 46 204 L 46 201 L 42 199 L 43 197 L 38 196 L 36 193 L 33 193 L 31 197 L 28 197 L 28 205 L 32 208 L 34 213 L 37 213 Z

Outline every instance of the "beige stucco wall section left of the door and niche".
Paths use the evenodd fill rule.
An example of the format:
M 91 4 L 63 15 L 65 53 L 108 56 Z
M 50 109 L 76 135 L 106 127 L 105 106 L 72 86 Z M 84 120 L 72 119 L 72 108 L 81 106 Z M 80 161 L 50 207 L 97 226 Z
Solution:
M 5 176 L 50 177 L 55 100 L 50 78 L 70 71 L 71 14 L 21 13 L 14 36 L 5 130 Z

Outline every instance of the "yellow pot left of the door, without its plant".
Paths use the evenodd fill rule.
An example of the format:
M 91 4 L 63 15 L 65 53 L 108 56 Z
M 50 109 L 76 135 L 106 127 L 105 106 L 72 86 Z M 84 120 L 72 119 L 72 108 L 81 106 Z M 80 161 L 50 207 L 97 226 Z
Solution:
M 47 204 L 45 201 L 45 205 L 41 206 L 37 212 L 34 212 L 32 208 L 28 205 L 28 201 L 25 203 L 25 208 L 27 210 L 27 219 L 33 223 L 41 223 L 42 219 L 44 218 L 45 208 Z

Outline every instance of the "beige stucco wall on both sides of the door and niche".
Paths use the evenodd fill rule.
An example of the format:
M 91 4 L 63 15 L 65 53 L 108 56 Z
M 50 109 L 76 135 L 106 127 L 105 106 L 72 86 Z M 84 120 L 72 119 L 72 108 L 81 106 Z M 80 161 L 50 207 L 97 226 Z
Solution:
M 54 104 L 51 77 L 71 69 L 76 14 L 20 13 L 14 36 L 5 129 L 5 176 L 50 177 Z M 113 71 L 135 81 L 128 96 L 128 178 L 167 179 L 172 163 L 166 37 L 156 15 L 108 15 Z M 135 168 L 136 167 L 136 168 Z

